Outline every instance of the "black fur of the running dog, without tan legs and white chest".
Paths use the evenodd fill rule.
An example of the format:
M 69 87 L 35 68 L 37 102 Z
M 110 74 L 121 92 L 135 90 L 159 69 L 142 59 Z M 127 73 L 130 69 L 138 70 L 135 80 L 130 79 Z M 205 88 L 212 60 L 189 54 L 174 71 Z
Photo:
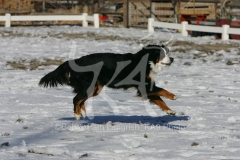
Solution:
M 136 54 L 95 53 L 83 56 L 79 59 L 66 61 L 57 69 L 45 75 L 40 80 L 39 85 L 44 87 L 56 87 L 58 84 L 66 84 L 73 87 L 73 92 L 77 93 L 73 100 L 75 108 L 79 100 L 87 99 L 90 94 L 93 96 L 97 95 L 97 93 L 94 93 L 96 91 L 94 91 L 93 88 L 89 91 L 94 74 L 98 75 L 95 84 L 93 84 L 95 87 L 99 84 L 115 89 L 128 89 L 134 87 L 138 90 L 139 96 L 147 96 L 145 94 L 150 91 L 155 92 L 161 90 L 161 88 L 155 86 L 154 80 L 149 77 L 151 71 L 149 61 L 156 64 L 161 58 L 164 58 L 165 54 L 162 48 L 165 48 L 167 52 L 169 51 L 165 46 L 151 45 L 147 46 L 147 48 L 143 48 Z M 173 58 L 170 59 L 172 62 Z M 96 68 L 94 68 L 96 64 L 102 66 L 95 66 Z M 89 66 L 93 67 L 93 71 L 97 69 L 100 70 L 99 72 L 81 70 Z M 121 69 L 117 71 L 117 67 Z M 80 71 L 78 69 L 80 69 Z M 146 92 L 143 93 L 143 91 Z

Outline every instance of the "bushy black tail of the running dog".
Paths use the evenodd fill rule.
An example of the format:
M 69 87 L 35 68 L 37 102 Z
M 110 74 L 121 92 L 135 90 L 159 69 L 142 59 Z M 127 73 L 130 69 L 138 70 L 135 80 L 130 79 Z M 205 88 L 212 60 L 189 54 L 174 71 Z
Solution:
M 45 75 L 39 82 L 39 86 L 43 87 L 57 87 L 58 85 L 67 84 L 69 81 L 69 73 L 71 68 L 69 62 L 66 61 L 57 69 Z

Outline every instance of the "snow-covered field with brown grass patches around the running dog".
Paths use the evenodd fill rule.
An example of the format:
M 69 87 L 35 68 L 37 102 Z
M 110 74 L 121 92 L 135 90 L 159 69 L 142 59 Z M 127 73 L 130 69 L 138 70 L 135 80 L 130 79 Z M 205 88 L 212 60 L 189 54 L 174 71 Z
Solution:
M 175 62 L 158 86 L 168 116 L 134 97 L 104 88 L 76 121 L 68 86 L 38 82 L 61 62 L 97 52 L 135 53 L 168 44 Z M 0 28 L 0 159 L 239 159 L 240 41 L 181 37 L 142 29 L 78 26 Z

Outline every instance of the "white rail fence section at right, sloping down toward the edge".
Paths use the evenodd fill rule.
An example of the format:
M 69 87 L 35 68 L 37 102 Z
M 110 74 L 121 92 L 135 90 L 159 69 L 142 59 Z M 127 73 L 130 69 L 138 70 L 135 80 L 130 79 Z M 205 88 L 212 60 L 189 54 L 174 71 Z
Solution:
M 229 34 L 239 34 L 240 29 L 230 28 L 229 25 L 223 25 L 222 27 L 210 27 L 210 26 L 198 26 L 189 25 L 188 22 L 182 22 L 181 24 L 166 23 L 166 22 L 155 22 L 153 18 L 148 19 L 148 32 L 153 33 L 154 27 L 179 29 L 183 36 L 188 36 L 188 30 L 199 31 L 199 32 L 210 32 L 210 33 L 221 33 L 222 40 L 228 40 Z

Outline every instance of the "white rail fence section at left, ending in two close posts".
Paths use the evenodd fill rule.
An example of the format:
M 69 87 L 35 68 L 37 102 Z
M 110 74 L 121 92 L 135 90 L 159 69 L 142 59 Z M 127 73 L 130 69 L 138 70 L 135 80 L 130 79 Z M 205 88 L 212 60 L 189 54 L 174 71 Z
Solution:
M 87 13 L 82 15 L 34 15 L 34 16 L 11 16 L 7 13 L 0 16 L 0 21 L 5 21 L 5 27 L 11 27 L 12 21 L 82 21 L 82 26 L 87 27 L 88 21 L 94 22 L 94 27 L 99 28 L 99 15 L 88 16 Z

